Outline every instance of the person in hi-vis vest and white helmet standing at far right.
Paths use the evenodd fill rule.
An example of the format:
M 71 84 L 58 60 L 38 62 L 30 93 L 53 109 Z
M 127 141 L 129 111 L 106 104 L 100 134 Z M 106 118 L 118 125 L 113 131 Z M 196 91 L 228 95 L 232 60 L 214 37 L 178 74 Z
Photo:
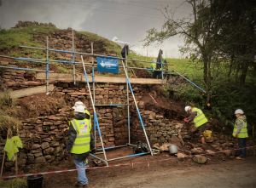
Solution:
M 233 130 L 233 136 L 238 139 L 239 156 L 236 159 L 243 159 L 247 155 L 247 117 L 241 109 L 235 111 L 236 122 Z

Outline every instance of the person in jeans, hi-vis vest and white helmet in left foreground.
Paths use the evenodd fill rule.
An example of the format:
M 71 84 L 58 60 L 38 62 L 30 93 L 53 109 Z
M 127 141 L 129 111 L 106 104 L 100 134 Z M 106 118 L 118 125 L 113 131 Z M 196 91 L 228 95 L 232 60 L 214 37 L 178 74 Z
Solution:
M 85 160 L 90 151 L 95 152 L 94 138 L 91 131 L 90 113 L 84 103 L 73 106 L 74 118 L 69 122 L 67 151 L 73 156 L 73 162 L 78 170 L 78 182 L 75 187 L 87 187 Z M 86 110 L 86 113 L 85 113 Z

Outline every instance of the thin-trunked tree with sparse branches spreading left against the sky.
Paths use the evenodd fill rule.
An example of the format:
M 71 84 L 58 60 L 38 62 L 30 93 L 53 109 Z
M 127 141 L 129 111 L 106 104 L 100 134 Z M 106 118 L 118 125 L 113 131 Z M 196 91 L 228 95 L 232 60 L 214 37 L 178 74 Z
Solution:
M 207 92 L 207 103 L 211 98 L 212 62 L 218 60 L 216 51 L 218 36 L 218 16 L 212 12 L 211 0 L 187 0 L 193 13 L 193 18 L 174 19 L 168 7 L 162 12 L 166 18 L 161 31 L 152 28 L 147 31 L 145 45 L 162 43 L 169 37 L 182 35 L 185 39 L 186 52 L 193 60 L 203 63 L 203 79 Z

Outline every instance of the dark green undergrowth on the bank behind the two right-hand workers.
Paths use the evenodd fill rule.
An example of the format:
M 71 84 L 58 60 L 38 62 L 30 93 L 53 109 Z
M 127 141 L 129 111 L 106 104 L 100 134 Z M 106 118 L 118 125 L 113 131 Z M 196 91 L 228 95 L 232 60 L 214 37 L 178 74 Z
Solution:
M 218 119 L 221 127 L 231 129 L 234 126 L 236 109 L 245 111 L 247 122 L 252 127 L 256 126 L 256 85 L 247 84 L 240 86 L 236 83 L 219 83 L 212 92 L 210 106 L 205 103 L 203 94 L 193 88 L 189 83 L 178 85 L 170 84 L 166 87 L 166 94 L 172 93 L 172 98 L 182 100 L 185 105 L 200 107 L 207 117 Z M 251 133 L 251 132 L 250 132 Z

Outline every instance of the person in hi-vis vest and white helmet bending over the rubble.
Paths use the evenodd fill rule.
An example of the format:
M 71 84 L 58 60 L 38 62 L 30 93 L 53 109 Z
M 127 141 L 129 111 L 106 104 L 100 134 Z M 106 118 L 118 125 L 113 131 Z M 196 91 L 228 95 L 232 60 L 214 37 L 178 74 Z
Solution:
M 189 117 L 184 118 L 184 122 L 193 122 L 194 127 L 192 132 L 198 131 L 201 136 L 201 143 L 206 144 L 206 139 L 203 135 L 204 131 L 211 128 L 210 123 L 207 120 L 205 114 L 199 108 L 191 107 L 187 105 L 185 111 L 189 114 Z

